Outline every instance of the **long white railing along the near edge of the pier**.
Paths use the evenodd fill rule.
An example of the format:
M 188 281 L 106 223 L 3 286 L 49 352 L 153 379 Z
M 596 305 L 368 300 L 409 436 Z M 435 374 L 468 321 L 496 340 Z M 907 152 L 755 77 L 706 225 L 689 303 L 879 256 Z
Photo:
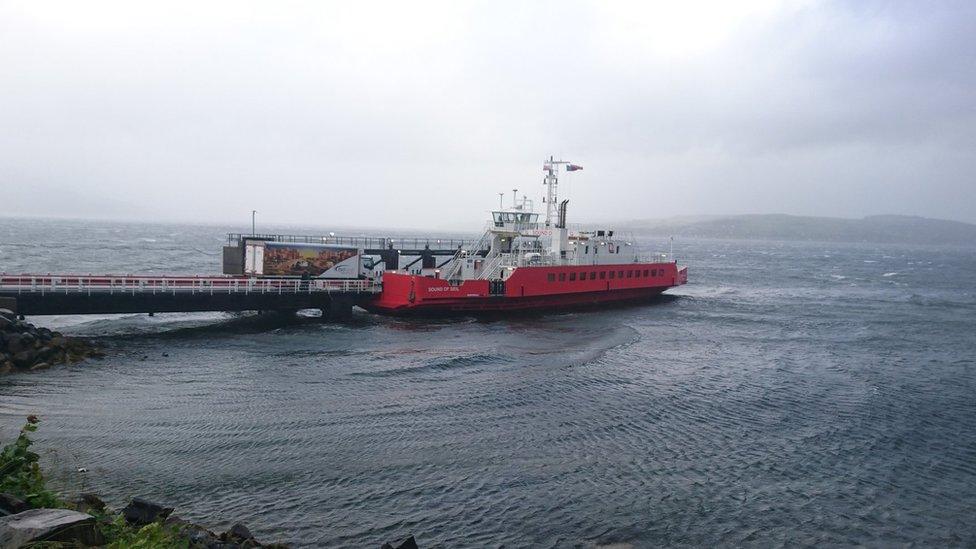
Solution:
M 301 294 L 318 292 L 376 293 L 373 280 L 330 280 L 247 277 L 176 277 L 113 275 L 6 275 L 0 274 L 0 294 L 33 293 L 172 293 L 172 294 Z

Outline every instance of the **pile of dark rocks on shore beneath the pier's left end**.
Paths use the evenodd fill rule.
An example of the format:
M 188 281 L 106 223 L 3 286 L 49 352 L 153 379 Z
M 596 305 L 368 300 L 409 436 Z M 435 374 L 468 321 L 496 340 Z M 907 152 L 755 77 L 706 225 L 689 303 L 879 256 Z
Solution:
M 0 375 L 43 370 L 70 364 L 102 353 L 89 341 L 38 328 L 0 309 Z

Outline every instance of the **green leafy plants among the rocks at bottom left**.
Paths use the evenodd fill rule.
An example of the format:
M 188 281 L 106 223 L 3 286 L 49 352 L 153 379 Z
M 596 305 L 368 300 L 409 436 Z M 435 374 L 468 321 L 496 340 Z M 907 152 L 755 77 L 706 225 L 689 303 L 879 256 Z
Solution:
M 31 508 L 65 508 L 76 506 L 61 500 L 48 490 L 38 463 L 39 456 L 30 450 L 33 441 L 29 435 L 37 431 L 40 420 L 28 416 L 17 440 L 4 446 L 0 452 L 0 493 L 23 500 Z M 155 522 L 141 528 L 128 524 L 122 515 L 107 510 L 86 512 L 96 518 L 99 530 L 105 537 L 105 546 L 112 549 L 176 549 L 188 548 L 189 542 L 176 527 Z M 62 544 L 47 542 L 44 547 L 61 547 Z

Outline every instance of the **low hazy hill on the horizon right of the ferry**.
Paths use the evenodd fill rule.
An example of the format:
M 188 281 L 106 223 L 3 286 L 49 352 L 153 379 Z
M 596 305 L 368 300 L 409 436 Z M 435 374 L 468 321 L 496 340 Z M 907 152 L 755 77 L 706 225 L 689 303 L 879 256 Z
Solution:
M 976 225 L 907 215 L 874 215 L 863 219 L 784 214 L 698 216 L 621 225 L 651 234 L 700 238 L 976 246 Z

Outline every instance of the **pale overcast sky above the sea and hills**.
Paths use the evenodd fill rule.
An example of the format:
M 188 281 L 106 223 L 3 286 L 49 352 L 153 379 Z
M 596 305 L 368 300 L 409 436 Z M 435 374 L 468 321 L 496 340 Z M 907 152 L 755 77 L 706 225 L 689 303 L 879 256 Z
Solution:
M 976 2 L 0 0 L 0 215 L 976 222 Z

